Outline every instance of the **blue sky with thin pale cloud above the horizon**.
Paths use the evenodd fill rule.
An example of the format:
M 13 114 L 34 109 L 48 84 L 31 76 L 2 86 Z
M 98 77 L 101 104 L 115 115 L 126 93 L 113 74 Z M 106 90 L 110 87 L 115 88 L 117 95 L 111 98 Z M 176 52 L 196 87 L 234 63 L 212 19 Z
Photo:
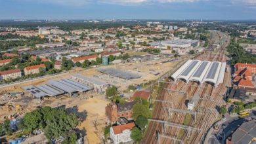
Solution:
M 256 0 L 0 0 L 0 19 L 256 20 Z

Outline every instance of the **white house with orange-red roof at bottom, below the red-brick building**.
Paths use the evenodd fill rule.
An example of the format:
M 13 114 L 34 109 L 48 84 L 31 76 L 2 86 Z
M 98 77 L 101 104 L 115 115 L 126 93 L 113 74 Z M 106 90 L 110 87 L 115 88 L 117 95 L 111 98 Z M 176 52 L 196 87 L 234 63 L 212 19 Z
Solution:
M 135 127 L 135 123 L 122 124 L 119 126 L 112 126 L 110 128 L 110 138 L 114 141 L 114 144 L 127 143 L 132 141 L 131 130 Z

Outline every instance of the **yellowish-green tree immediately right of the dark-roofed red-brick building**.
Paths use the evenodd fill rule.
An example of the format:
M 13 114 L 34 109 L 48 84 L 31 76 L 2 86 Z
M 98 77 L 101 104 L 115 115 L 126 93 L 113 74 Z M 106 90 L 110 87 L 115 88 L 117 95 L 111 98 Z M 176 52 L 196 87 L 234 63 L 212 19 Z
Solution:
M 133 105 L 133 119 L 136 120 L 140 115 L 146 118 L 150 117 L 150 110 L 148 109 L 148 105 L 142 105 L 140 103 Z

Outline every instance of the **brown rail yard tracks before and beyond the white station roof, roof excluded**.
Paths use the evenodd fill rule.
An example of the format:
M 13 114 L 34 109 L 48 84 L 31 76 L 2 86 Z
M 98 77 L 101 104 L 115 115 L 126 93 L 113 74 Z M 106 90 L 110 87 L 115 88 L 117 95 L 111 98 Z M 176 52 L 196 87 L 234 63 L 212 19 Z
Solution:
M 203 52 L 194 60 L 226 62 L 225 48 Z M 185 81 L 166 79 L 158 98 L 154 100 L 154 113 L 142 143 L 203 143 L 208 128 L 218 118 L 218 109 L 224 105 L 228 87 L 231 85 L 230 67 L 224 67 L 223 82 Z M 187 110 L 187 103 L 194 103 L 193 110 Z

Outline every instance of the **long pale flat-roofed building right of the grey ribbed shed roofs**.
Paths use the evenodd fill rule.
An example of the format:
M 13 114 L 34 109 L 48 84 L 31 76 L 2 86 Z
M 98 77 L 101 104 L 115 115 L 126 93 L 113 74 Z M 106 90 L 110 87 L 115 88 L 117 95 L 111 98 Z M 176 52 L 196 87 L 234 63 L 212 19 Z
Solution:
M 110 87 L 108 82 L 102 81 L 101 79 L 97 79 L 95 77 L 84 77 L 83 75 L 77 74 L 72 75 L 71 79 L 93 88 L 93 90 L 98 93 L 104 93 L 106 89 Z

